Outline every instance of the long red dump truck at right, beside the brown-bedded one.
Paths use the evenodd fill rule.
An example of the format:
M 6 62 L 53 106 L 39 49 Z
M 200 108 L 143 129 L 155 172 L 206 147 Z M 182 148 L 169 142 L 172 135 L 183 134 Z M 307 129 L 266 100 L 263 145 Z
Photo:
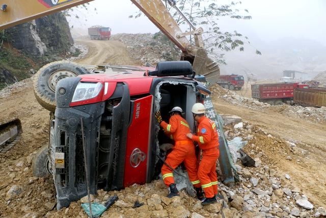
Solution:
M 264 83 L 251 85 L 252 98 L 271 105 L 293 103 L 294 88 L 307 89 L 307 84 L 299 83 Z

